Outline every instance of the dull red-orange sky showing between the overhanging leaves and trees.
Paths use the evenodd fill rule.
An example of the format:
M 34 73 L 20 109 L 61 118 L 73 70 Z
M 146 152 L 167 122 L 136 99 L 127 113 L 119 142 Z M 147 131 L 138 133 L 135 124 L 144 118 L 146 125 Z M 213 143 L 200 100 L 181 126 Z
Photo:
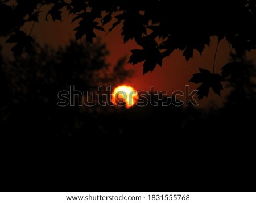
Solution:
M 76 27 L 76 24 L 71 24 L 72 16 L 67 14 L 63 15 L 63 22 L 52 22 L 49 18 L 49 22 L 44 20 L 44 13 L 42 18 L 39 19 L 40 23 L 35 23 L 34 29 L 32 31 L 32 36 L 36 40 L 43 44 L 49 43 L 53 47 L 60 45 L 68 44 L 69 40 L 75 39 L 75 32 L 73 28 Z M 23 30 L 28 33 L 30 31 L 32 24 L 27 24 Z M 139 46 L 134 43 L 134 41 L 129 41 L 126 44 L 123 44 L 121 33 L 121 26 L 116 27 L 114 31 L 108 33 L 97 32 L 96 34 L 101 37 L 102 41 L 107 44 L 107 48 L 110 50 L 110 56 L 108 61 L 114 65 L 119 58 L 127 55 L 130 56 L 130 50 L 139 48 Z M 2 44 L 3 40 L 1 40 Z M 212 38 L 212 43 L 210 48 L 207 46 L 203 52 L 203 56 L 200 56 L 198 52 L 194 52 L 194 57 L 188 62 L 185 61 L 185 57 L 182 56 L 182 52 L 175 51 L 171 54 L 170 57 L 164 58 L 163 66 L 157 66 L 155 70 L 151 73 L 146 73 L 143 75 L 143 62 L 137 65 L 132 66 L 127 64 L 127 69 L 134 69 L 135 75 L 133 78 L 127 81 L 127 84 L 130 84 L 137 90 L 146 90 L 148 91 L 151 86 L 155 86 L 155 90 L 158 91 L 168 91 L 168 94 L 175 90 L 184 90 L 184 86 L 189 84 L 191 89 L 196 89 L 198 85 L 195 85 L 191 82 L 188 82 L 192 77 L 193 73 L 197 73 L 198 67 L 203 67 L 208 70 L 212 70 L 214 52 L 217 45 L 217 39 Z M 11 45 L 5 47 L 5 52 L 9 52 Z M 225 40 L 222 40 L 218 46 L 218 52 L 216 57 L 216 73 L 220 73 L 220 68 L 228 62 L 229 59 L 229 48 Z M 225 86 L 225 83 L 223 83 Z M 223 93 L 223 92 L 222 92 Z M 223 95 L 223 94 L 222 94 Z M 218 95 L 214 94 L 212 90 L 209 92 L 209 99 L 202 99 L 199 101 L 200 106 L 205 106 L 207 103 L 217 103 L 220 104 L 220 98 Z

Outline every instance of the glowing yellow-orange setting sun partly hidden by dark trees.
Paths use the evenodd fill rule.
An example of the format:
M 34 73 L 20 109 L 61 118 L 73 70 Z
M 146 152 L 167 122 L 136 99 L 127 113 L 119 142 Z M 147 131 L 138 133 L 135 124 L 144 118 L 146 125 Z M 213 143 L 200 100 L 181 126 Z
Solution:
M 137 91 L 133 87 L 121 85 L 114 89 L 111 102 L 119 107 L 132 107 L 138 100 Z

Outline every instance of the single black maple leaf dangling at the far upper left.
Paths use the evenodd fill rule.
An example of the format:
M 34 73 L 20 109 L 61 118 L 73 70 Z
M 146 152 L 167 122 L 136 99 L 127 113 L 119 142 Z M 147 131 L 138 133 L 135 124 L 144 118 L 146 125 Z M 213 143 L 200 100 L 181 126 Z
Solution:
M 31 43 L 33 41 L 34 39 L 31 36 L 27 36 L 25 32 L 18 30 L 7 39 L 6 43 L 17 43 L 11 50 L 14 52 L 15 57 L 20 57 L 23 49 L 25 49 L 28 54 L 31 54 Z

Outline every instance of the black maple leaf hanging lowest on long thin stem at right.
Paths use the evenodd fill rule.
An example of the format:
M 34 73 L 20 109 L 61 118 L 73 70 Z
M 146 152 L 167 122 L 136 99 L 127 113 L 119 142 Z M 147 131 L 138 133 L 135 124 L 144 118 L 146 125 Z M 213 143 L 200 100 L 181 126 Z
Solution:
M 189 82 L 193 83 L 202 83 L 198 88 L 197 94 L 198 98 L 202 99 L 204 96 L 207 97 L 209 94 L 210 87 L 212 90 L 220 95 L 220 91 L 223 90 L 221 81 L 223 81 L 220 74 L 210 73 L 209 70 L 199 68 L 200 73 L 193 74 L 193 77 L 189 80 Z

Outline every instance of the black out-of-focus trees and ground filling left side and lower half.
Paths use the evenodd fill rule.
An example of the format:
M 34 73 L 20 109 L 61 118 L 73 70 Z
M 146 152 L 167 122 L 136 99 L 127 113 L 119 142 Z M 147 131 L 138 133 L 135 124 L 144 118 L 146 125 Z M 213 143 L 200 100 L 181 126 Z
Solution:
M 38 46 L 15 61 L 1 57 L 2 191 L 255 191 L 251 62 L 234 56 L 236 77 L 220 109 L 160 100 L 88 108 L 76 96 L 75 106 L 58 107 L 57 93 L 71 85 L 90 91 L 131 75 L 124 59 L 113 71 L 107 54 L 101 43 L 71 42 L 57 51 Z

